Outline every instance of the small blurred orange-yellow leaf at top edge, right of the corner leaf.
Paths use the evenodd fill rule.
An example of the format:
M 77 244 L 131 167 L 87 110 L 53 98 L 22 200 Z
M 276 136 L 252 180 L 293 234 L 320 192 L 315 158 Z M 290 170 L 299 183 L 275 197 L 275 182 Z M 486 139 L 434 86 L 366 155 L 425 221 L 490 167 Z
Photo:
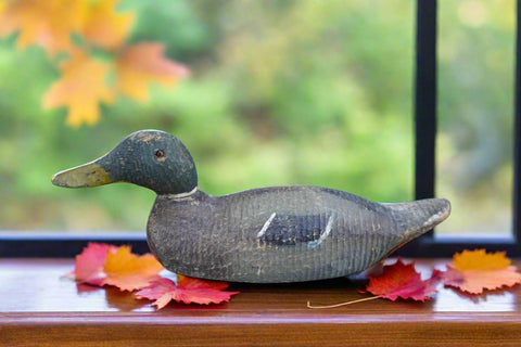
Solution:
M 114 50 L 119 48 L 134 24 L 134 13 L 117 14 L 117 0 L 92 2 L 82 34 L 94 46 Z

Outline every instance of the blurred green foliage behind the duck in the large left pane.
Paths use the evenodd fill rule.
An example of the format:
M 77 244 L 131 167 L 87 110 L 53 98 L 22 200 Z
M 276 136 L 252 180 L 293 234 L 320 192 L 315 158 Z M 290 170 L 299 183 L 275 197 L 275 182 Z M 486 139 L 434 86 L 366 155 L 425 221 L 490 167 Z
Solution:
M 43 51 L 0 41 L 1 229 L 144 230 L 154 193 L 64 190 L 49 179 L 145 128 L 185 142 L 211 194 L 313 184 L 412 198 L 414 1 L 125 0 L 120 9 L 138 16 L 130 41 L 163 42 L 192 76 L 153 87 L 145 104 L 119 99 L 98 125 L 73 129 L 64 110 L 41 107 L 58 76 Z

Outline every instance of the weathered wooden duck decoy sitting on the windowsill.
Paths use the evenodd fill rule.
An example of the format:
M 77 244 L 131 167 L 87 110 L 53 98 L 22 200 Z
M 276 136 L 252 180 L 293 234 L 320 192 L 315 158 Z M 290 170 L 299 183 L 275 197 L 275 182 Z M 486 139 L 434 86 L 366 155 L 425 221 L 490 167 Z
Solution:
M 445 198 L 385 204 L 307 185 L 212 196 L 198 188 L 187 147 L 158 130 L 134 132 L 106 155 L 52 178 L 66 188 L 113 182 L 157 193 L 147 239 L 166 269 L 229 282 L 302 282 L 358 273 L 450 214 Z

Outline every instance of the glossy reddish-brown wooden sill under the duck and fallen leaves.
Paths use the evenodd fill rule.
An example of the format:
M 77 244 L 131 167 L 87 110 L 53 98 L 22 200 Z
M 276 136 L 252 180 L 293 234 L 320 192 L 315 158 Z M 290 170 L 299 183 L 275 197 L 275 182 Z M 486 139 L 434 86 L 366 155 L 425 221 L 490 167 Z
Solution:
M 429 272 L 443 260 L 417 260 Z M 425 303 L 367 297 L 365 282 L 233 284 L 228 304 L 155 311 L 115 288 L 77 285 L 73 259 L 0 259 L 0 346 L 521 346 L 521 290 Z

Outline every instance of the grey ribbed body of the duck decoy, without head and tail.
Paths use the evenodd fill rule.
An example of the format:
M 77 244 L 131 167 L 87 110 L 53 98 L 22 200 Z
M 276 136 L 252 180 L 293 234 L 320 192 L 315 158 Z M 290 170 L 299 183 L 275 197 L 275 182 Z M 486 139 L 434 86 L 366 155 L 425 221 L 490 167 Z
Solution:
M 201 191 L 160 195 L 148 237 L 163 265 L 186 275 L 237 282 L 319 280 L 363 271 L 408 241 L 402 218 L 407 208 L 391 206 L 303 185 L 225 196 Z

